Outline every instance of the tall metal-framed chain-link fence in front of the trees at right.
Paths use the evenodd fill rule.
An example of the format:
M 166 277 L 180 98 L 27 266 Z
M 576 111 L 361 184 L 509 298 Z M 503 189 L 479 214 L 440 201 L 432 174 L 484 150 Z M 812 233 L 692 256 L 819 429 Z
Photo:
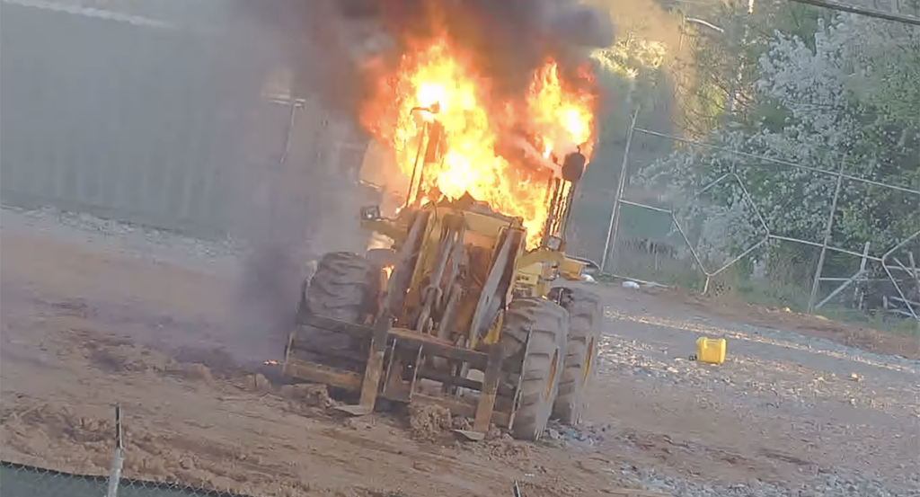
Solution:
M 853 310 L 920 320 L 920 225 L 903 219 L 893 231 L 856 240 L 858 247 L 855 237 L 835 226 L 871 215 L 860 206 L 881 199 L 916 204 L 920 191 L 850 172 L 847 164 L 828 170 L 757 156 L 644 129 L 636 119 L 625 147 L 603 272 L 800 311 Z M 705 164 L 707 178 L 696 183 L 671 178 L 670 184 L 650 179 L 656 164 L 673 169 L 672 177 L 682 174 L 674 167 L 682 161 Z M 788 198 L 764 202 L 756 189 L 768 180 L 765 170 L 774 175 L 769 178 L 777 171 L 788 175 L 788 185 L 770 187 L 789 197 L 803 189 L 814 193 L 811 210 L 822 221 L 811 237 L 783 232 L 793 206 L 783 203 Z

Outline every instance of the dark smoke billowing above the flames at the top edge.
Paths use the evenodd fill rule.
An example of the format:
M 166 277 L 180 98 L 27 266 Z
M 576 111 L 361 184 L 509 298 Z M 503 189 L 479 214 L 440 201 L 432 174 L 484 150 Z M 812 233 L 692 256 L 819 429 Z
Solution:
M 473 57 L 503 99 L 523 95 L 547 57 L 576 82 L 588 53 L 614 41 L 609 12 L 579 0 L 236 1 L 242 12 L 280 35 L 295 68 L 297 92 L 318 95 L 348 115 L 355 115 L 375 83 L 350 53 L 366 42 L 355 34 L 356 26 L 385 32 L 392 44 L 380 55 L 390 64 L 410 47 L 446 35 Z

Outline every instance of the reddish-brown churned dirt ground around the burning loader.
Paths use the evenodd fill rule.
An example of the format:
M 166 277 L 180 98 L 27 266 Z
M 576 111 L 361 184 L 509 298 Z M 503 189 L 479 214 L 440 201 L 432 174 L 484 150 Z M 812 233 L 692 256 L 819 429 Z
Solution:
M 233 275 L 26 231 L 0 231 L 0 247 L 6 461 L 104 474 L 112 405 L 119 402 L 124 476 L 266 497 L 510 495 L 514 480 L 527 497 L 604 495 L 629 485 L 625 467 L 730 485 L 788 481 L 803 468 L 841 464 L 834 450 L 809 450 L 780 424 L 754 425 L 728 408 L 714 412 L 698 392 L 647 385 L 610 367 L 592 387 L 587 435 L 576 437 L 585 443 L 565 444 L 562 434 L 540 444 L 501 435 L 464 443 L 441 429 L 438 416 L 417 415 L 414 423 L 389 413 L 341 419 L 322 391 L 273 384 L 269 369 L 244 367 L 221 352 L 230 341 L 248 341 L 264 360 L 282 353 L 282 343 L 259 330 L 227 331 L 238 329 L 225 318 L 235 302 Z M 612 309 L 635 316 L 711 315 L 920 357 L 915 339 L 820 318 L 667 291 L 615 288 L 605 295 Z M 611 320 L 607 331 L 627 326 L 634 325 Z M 633 332 L 641 341 L 645 331 L 635 325 Z

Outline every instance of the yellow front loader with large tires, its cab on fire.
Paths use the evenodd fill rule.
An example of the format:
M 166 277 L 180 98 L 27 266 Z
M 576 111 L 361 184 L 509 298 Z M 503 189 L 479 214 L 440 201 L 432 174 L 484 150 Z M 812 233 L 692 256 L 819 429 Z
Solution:
M 584 165 L 569 154 L 562 178 L 548 180 L 536 249 L 525 247 L 521 218 L 468 194 L 422 203 L 410 184 L 395 217 L 362 208 L 362 225 L 393 247 L 318 261 L 284 374 L 352 392 L 357 403 L 339 409 L 356 416 L 377 399 L 441 404 L 473 420 L 460 431 L 473 440 L 490 424 L 536 440 L 550 417 L 579 422 L 601 308 L 591 293 L 552 283 L 581 280 L 584 264 L 566 257 L 563 234 Z

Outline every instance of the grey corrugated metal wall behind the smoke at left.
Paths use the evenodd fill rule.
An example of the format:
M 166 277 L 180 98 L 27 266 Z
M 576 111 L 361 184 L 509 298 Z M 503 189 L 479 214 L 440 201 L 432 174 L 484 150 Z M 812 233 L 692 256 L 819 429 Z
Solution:
M 236 227 L 247 169 L 282 154 L 289 108 L 259 95 L 278 58 L 234 33 L 37 5 L 0 1 L 2 200 L 198 236 Z M 313 150 L 327 120 L 298 120 L 293 146 Z

